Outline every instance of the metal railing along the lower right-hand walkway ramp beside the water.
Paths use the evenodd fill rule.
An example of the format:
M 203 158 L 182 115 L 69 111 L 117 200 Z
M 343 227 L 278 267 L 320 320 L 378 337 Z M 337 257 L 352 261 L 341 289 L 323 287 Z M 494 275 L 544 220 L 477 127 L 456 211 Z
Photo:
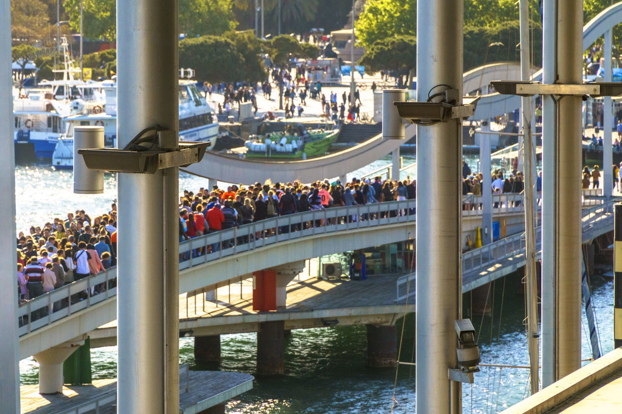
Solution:
M 596 200 L 593 200 L 596 201 Z M 600 205 L 585 208 L 582 211 L 582 231 L 586 232 L 593 228 L 602 228 L 613 225 L 613 204 L 620 200 L 610 200 Z M 463 211 L 463 213 L 465 213 Z M 536 228 L 536 252 L 541 250 L 541 227 Z M 473 249 L 462 254 L 462 272 L 478 272 L 486 267 L 498 263 L 501 260 L 524 254 L 524 232 L 504 237 L 498 241 L 486 244 L 478 249 Z M 405 300 L 415 295 L 414 289 L 407 289 L 406 293 L 400 293 L 402 285 L 414 281 L 414 274 L 404 275 L 396 281 L 397 301 Z M 403 288 L 402 288 L 403 289 Z

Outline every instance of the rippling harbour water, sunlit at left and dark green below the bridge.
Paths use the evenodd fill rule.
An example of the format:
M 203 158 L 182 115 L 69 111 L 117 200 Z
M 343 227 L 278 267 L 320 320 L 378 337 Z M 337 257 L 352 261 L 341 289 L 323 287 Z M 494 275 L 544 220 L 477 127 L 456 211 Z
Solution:
M 469 158 L 474 161 L 475 157 Z M 406 154 L 404 165 L 414 161 Z M 360 177 L 390 162 L 390 157 L 348 174 Z M 473 163 L 472 165 L 475 165 Z M 475 168 L 474 168 L 475 169 Z M 17 229 L 30 224 L 42 225 L 67 211 L 85 209 L 90 214 L 109 210 L 116 198 L 114 175 L 106 175 L 101 195 L 75 195 L 71 172 L 49 167 L 16 168 Z M 196 191 L 207 180 L 180 174 L 180 189 Z M 524 297 L 517 287 L 521 275 L 511 275 L 494 283 L 490 295 L 493 313 L 473 316 L 478 330 L 483 362 L 528 365 L 524 319 Z M 613 282 L 600 275 L 592 277 L 593 301 L 598 318 L 603 354 L 613 349 Z M 465 295 L 465 316 L 469 315 L 470 296 Z M 583 359 L 591 355 L 587 340 L 585 313 L 582 318 Z M 398 331 L 401 325 L 398 325 Z M 402 342 L 401 361 L 413 361 L 414 320 L 407 319 Z M 221 370 L 255 374 L 256 335 L 221 336 Z M 285 375 L 256 377 L 254 388 L 227 405 L 228 413 L 412 413 L 415 408 L 414 368 L 371 369 L 366 366 L 366 329 L 364 326 L 292 331 L 285 339 Z M 91 350 L 93 378 L 116 377 L 116 347 Z M 193 339 L 180 339 L 180 362 L 197 368 L 193 357 Z M 585 364 L 586 362 L 584 362 Z M 37 384 L 38 369 L 32 358 L 20 362 L 22 384 Z M 513 405 L 528 394 L 526 369 L 482 367 L 475 384 L 463 387 L 463 412 L 494 413 Z

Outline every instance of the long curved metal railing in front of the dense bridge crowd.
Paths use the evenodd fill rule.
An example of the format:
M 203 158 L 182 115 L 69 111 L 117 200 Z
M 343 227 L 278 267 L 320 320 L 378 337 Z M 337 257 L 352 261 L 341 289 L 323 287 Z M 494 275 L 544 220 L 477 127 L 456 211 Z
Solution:
M 415 200 L 388 201 L 305 211 L 244 224 L 181 242 L 179 252 L 182 260 L 179 269 L 188 269 L 221 257 L 316 234 L 414 222 L 414 209 Z M 212 247 L 215 249 L 211 249 Z M 211 249 L 211 252 L 193 257 L 200 249 L 204 252 Z M 185 257 L 187 260 L 183 260 Z M 116 277 L 115 266 L 107 272 L 68 283 L 52 292 L 21 303 L 17 310 L 19 336 L 116 296 Z M 54 304 L 57 305 L 57 310 L 51 312 Z

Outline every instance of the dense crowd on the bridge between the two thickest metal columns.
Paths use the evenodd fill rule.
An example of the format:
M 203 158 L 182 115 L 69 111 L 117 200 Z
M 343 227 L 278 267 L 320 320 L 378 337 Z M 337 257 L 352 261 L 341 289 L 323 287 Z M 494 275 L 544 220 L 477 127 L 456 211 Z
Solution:
M 248 186 L 231 185 L 224 189 L 200 188 L 195 194 L 184 191 L 179 206 L 179 241 L 210 234 L 225 229 L 250 224 L 263 219 L 317 211 L 337 206 L 357 206 L 383 201 L 414 199 L 416 192 L 415 180 L 381 180 L 381 177 L 360 180 L 353 178 L 351 182 L 341 183 L 340 180 L 317 181 L 309 185 L 294 181 L 285 184 L 259 182 Z M 407 212 L 396 211 L 395 214 Z M 414 211 L 412 212 L 414 213 Z M 340 218 L 341 221 L 359 221 L 367 219 L 365 214 Z M 285 226 L 281 232 L 296 231 L 302 227 L 325 226 L 337 223 L 315 222 Z M 302 225 L 302 227 L 301 227 Z M 275 229 L 276 230 L 276 229 Z M 267 231 L 256 237 L 269 237 L 274 232 Z M 197 249 L 193 255 L 201 255 L 216 251 L 220 246 L 207 246 L 207 251 Z M 188 259 L 182 254 L 180 259 Z

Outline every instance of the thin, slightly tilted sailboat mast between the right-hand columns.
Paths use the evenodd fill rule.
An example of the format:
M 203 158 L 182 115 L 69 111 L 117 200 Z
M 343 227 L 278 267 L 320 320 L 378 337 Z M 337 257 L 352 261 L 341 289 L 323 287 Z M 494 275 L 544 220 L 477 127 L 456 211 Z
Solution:
M 521 24 L 521 80 L 531 80 L 531 62 L 529 60 L 529 3 L 520 0 L 519 15 Z M 529 349 L 529 367 L 531 393 L 539 388 L 539 329 L 536 280 L 536 226 L 534 225 L 534 179 L 533 179 L 533 137 L 531 136 L 531 97 L 523 96 L 522 106 L 522 156 L 524 166 L 525 196 L 525 266 L 527 295 L 527 346 Z

